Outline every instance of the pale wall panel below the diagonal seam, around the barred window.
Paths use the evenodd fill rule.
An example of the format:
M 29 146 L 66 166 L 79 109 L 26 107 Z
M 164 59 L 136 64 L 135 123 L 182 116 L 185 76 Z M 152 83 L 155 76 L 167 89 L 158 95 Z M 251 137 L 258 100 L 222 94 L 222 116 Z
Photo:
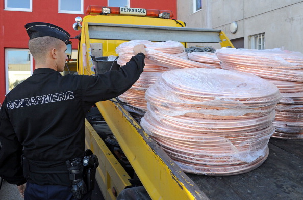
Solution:
M 285 47 L 292 51 L 303 50 L 303 3 L 277 9 L 245 20 L 245 48 L 248 36 L 265 32 L 265 48 Z

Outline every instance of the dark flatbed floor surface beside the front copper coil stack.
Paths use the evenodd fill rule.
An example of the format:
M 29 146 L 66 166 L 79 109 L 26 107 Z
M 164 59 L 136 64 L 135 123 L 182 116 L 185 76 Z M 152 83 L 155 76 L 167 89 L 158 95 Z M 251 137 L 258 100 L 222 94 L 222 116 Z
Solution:
M 234 176 L 188 177 L 211 200 L 303 199 L 303 141 L 270 139 L 269 156 L 257 169 Z

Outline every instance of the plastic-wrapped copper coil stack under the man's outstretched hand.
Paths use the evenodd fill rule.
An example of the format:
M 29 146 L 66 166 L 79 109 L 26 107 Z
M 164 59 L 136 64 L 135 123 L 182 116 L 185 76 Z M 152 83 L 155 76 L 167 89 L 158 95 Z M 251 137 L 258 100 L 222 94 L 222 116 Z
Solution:
M 181 68 L 214 68 L 212 66 L 190 61 L 185 48 L 180 42 L 150 42 L 133 40 L 120 44 L 116 52 L 119 54 L 117 63 L 125 65 L 134 56 L 133 47 L 137 44 L 146 46 L 144 71 L 139 80 L 127 92 L 119 96 L 120 100 L 134 107 L 147 111 L 144 98 L 147 88 L 154 84 L 160 73 Z

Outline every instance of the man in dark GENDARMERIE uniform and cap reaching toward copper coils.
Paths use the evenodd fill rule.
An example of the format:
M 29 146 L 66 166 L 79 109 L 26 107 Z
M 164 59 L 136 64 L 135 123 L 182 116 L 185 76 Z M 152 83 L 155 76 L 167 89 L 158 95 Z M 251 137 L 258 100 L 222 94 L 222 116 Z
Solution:
M 144 45 L 135 46 L 135 56 L 119 70 L 62 76 L 70 35 L 49 23 L 25 27 L 36 66 L 31 77 L 7 94 L 0 110 L 0 177 L 16 184 L 25 199 L 74 199 L 72 187 L 81 199 L 91 199 L 91 191 L 82 193 L 77 176 L 70 179 L 66 161 L 78 166 L 74 159 L 84 157 L 86 112 L 98 101 L 121 95 L 138 80 Z M 22 154 L 27 161 L 24 173 Z

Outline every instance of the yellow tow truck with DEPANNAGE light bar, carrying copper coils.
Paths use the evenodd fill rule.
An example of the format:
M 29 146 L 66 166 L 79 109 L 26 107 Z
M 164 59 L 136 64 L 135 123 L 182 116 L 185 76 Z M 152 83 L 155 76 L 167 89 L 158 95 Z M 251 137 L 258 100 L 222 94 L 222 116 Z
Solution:
M 233 48 L 221 30 L 186 28 L 183 21 L 170 19 L 170 11 L 89 6 L 86 12 L 89 15 L 83 20 L 76 18 L 74 24 L 75 29 L 81 30 L 77 36 L 78 74 L 94 75 L 91 56 L 117 55 L 116 47 L 130 40 L 172 40 L 185 47 L 187 43 L 220 43 Z M 96 108 L 102 119 L 95 120 L 95 127 L 109 127 L 110 138 L 114 139 L 110 141 L 117 142 L 110 146 L 108 138 L 102 138 L 93 123 L 86 120 L 86 146 L 99 158 L 96 181 L 106 200 L 117 199 L 124 189 L 136 190 L 141 185 L 151 199 L 303 198 L 300 141 L 271 139 L 268 159 L 249 173 L 195 175 L 184 173 L 117 99 L 97 102 Z

